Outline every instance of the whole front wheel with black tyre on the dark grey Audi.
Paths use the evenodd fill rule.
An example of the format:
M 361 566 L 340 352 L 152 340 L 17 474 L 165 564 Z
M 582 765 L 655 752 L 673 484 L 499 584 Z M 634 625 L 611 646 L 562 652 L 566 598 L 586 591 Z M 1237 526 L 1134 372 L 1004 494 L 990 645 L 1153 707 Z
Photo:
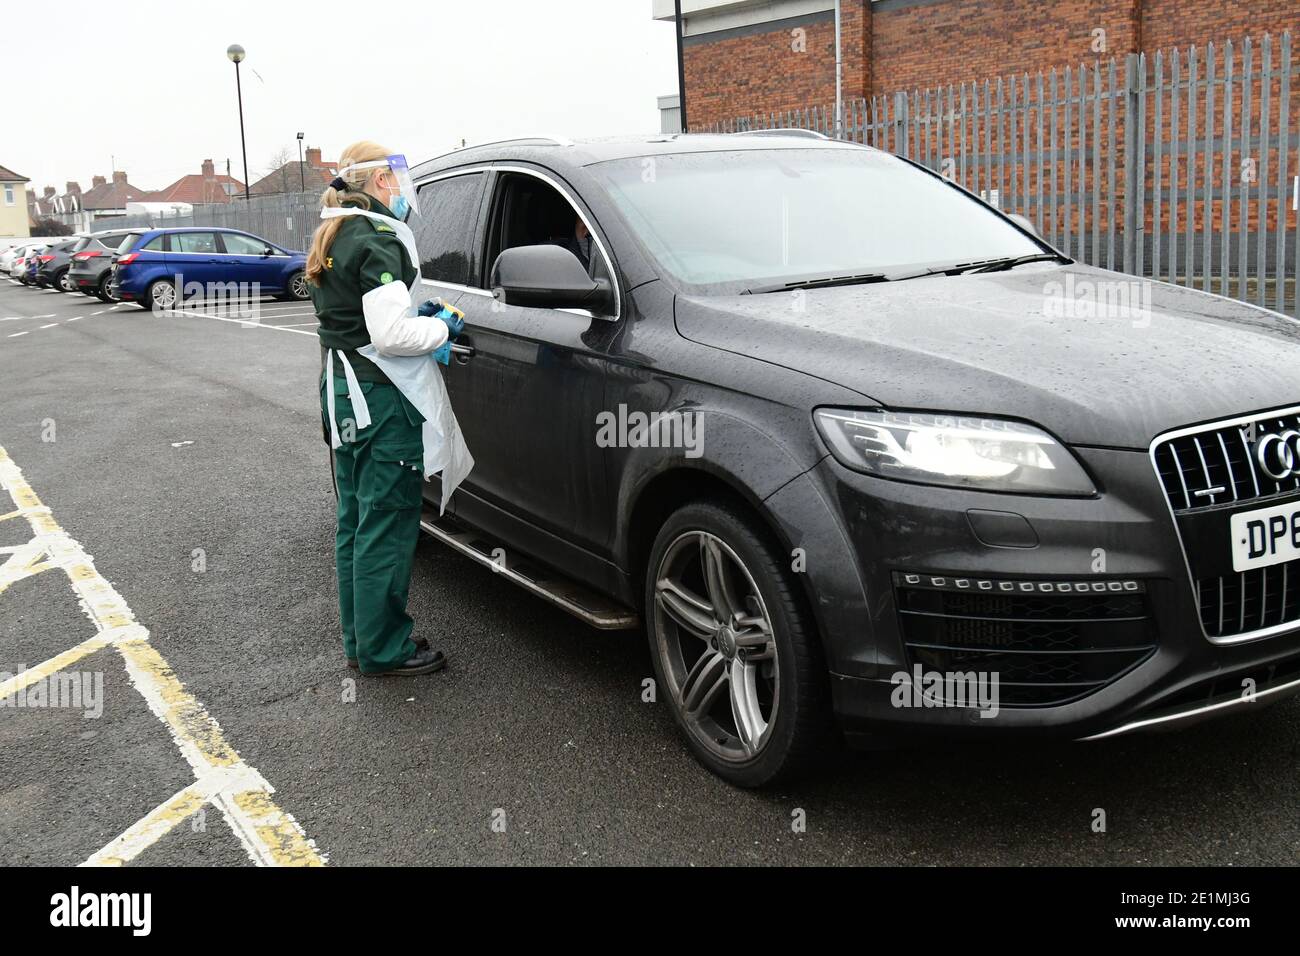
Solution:
M 764 787 L 833 749 L 816 624 L 753 515 L 728 501 L 681 507 L 659 529 L 645 578 L 660 693 L 701 763 Z

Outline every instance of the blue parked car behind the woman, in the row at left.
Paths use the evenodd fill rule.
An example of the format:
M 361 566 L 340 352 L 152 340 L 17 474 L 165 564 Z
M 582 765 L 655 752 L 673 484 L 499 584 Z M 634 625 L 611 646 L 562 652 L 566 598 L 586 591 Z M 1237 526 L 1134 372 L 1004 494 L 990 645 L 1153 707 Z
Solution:
M 307 299 L 307 255 L 235 229 L 151 229 L 113 263 L 122 302 L 174 308 L 195 295 Z M 239 284 L 239 285 L 231 285 Z

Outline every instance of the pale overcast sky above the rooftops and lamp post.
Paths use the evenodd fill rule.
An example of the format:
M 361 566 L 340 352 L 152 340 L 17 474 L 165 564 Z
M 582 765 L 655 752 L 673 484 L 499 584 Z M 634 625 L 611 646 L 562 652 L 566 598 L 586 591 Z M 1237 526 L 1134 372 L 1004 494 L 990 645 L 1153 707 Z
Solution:
M 374 139 L 412 164 L 519 134 L 658 131 L 676 92 L 671 23 L 650 0 L 58 0 L 20 4 L 0 34 L 0 165 L 38 193 L 114 164 L 161 189 L 204 159 L 243 179 L 234 66 L 243 74 L 248 176 L 296 157 L 299 130 L 326 160 Z M 48 10 L 48 16 L 43 13 Z M 21 88 L 21 87 L 20 87 Z

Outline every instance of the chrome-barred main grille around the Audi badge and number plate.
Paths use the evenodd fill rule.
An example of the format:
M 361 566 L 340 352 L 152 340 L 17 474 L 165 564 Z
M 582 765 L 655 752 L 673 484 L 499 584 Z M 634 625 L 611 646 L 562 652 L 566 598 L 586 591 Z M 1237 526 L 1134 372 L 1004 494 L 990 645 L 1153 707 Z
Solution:
M 1162 436 L 1152 445 L 1160 477 L 1191 575 L 1205 636 L 1239 641 L 1300 626 L 1300 561 L 1235 571 L 1230 518 L 1300 497 L 1297 473 L 1283 462 L 1260 460 L 1260 445 L 1300 446 L 1300 410 L 1243 416 Z M 1270 438 L 1269 436 L 1277 436 Z M 1288 441 L 1283 441 L 1288 440 Z M 1300 466 L 1300 450 L 1295 463 Z M 1282 475 L 1279 477 L 1279 475 Z

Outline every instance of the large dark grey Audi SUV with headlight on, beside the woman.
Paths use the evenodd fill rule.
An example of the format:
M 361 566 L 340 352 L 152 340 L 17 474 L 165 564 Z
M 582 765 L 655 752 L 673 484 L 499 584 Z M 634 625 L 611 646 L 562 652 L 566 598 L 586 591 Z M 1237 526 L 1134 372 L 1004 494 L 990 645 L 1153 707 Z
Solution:
M 515 140 L 415 178 L 476 459 L 426 531 L 642 626 L 725 779 L 1300 689 L 1295 321 L 806 134 Z M 1134 284 L 1136 313 L 1080 291 Z

